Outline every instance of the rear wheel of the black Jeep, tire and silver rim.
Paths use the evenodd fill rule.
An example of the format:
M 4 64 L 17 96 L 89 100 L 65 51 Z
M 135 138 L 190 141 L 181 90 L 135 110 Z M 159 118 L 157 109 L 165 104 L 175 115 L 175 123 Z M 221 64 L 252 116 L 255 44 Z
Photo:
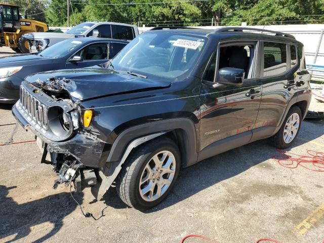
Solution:
M 296 139 L 302 121 L 302 112 L 298 106 L 293 106 L 282 123 L 280 130 L 271 137 L 273 145 L 277 148 L 288 148 Z

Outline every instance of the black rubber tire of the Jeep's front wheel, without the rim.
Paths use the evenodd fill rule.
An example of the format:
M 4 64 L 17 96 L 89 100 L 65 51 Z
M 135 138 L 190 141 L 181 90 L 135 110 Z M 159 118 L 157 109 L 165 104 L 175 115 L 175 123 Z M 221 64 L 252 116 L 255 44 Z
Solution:
M 151 158 L 158 152 L 165 150 L 172 152 L 175 158 L 176 168 L 172 182 L 169 188 L 156 200 L 144 200 L 140 194 L 139 184 L 142 173 Z M 116 182 L 117 193 L 121 200 L 132 208 L 141 211 L 150 209 L 158 205 L 169 194 L 178 177 L 180 166 L 180 152 L 173 140 L 163 137 L 144 143 L 131 152 L 121 169 Z

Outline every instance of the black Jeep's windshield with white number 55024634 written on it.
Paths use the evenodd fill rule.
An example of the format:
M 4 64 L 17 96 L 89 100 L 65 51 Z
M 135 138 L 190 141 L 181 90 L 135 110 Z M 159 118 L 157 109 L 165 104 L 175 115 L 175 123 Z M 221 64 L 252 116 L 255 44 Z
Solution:
M 120 71 L 180 79 L 197 62 L 205 37 L 179 33 L 145 33 L 136 37 L 111 61 Z

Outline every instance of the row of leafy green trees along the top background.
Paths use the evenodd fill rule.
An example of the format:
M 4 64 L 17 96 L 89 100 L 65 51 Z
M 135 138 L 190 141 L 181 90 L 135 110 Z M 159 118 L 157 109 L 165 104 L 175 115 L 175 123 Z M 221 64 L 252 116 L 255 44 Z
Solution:
M 46 1 L 49 1 L 47 4 Z M 70 0 L 70 24 L 85 21 L 111 21 L 146 26 L 304 24 L 323 23 L 324 0 Z M 44 12 L 50 26 L 66 26 L 67 0 L 8 0 L 29 9 L 29 14 Z M 164 4 L 149 4 L 165 2 Z M 81 3 L 81 4 L 80 4 Z M 130 4 L 131 3 L 131 4 Z M 148 4 L 138 4 L 148 3 Z M 112 5 L 106 5 L 112 4 Z M 127 4 L 127 5 L 125 5 Z M 308 15 L 308 16 L 305 16 Z M 35 19 L 44 21 L 43 15 Z

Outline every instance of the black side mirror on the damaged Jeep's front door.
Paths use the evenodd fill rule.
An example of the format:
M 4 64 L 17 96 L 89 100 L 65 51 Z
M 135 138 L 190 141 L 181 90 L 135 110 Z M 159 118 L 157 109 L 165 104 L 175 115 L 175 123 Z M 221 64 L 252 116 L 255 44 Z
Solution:
M 235 85 L 243 84 L 245 71 L 240 68 L 224 67 L 218 71 L 217 83 L 220 85 Z

